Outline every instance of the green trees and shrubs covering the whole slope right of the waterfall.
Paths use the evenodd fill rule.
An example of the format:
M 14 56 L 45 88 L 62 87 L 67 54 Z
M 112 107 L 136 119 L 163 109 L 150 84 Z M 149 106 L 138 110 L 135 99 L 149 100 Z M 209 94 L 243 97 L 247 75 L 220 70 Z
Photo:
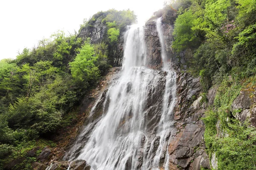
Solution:
M 256 1 L 180 0 L 169 6 L 177 9 L 172 48 L 185 51 L 183 66 L 201 77 L 205 93 L 217 89 L 202 118 L 212 169 L 256 169 L 256 129 L 248 116 L 255 114 Z M 237 102 L 244 91 L 248 95 Z M 244 101 L 254 104 L 245 108 Z

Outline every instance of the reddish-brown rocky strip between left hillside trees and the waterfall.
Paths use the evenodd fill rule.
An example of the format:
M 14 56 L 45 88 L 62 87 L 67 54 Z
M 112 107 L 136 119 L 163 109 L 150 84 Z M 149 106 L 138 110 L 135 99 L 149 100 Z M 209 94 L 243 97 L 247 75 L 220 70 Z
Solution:
M 59 139 L 57 140 L 60 146 L 67 151 L 64 159 L 69 158 L 71 154 L 77 156 L 81 152 L 80 149 L 82 149 L 87 142 L 91 128 L 97 123 L 99 116 L 102 115 L 102 106 L 106 98 L 108 83 L 119 77 L 119 71 L 120 68 L 118 67 L 111 68 L 110 72 L 102 79 L 97 88 L 93 89 L 90 94 L 84 97 L 79 108 L 79 122 L 76 123 L 76 126 L 70 127 L 69 130 L 65 132 L 65 136 L 62 135 L 58 137 Z M 94 107 L 94 105 L 96 106 Z M 90 116 L 91 114 L 93 116 Z M 89 126 L 88 129 L 83 131 L 84 125 Z M 63 134 L 63 132 L 60 133 Z

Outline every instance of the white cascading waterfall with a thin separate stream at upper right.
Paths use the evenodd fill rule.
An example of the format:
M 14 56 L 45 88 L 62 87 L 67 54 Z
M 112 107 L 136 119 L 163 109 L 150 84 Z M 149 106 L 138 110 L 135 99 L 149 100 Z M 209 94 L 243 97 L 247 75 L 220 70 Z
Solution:
M 143 30 L 133 25 L 125 33 L 122 71 L 108 87 L 102 117 L 84 128 L 65 159 L 84 159 L 93 170 L 168 170 L 176 73 L 168 68 L 158 20 L 163 71 L 146 67 Z

